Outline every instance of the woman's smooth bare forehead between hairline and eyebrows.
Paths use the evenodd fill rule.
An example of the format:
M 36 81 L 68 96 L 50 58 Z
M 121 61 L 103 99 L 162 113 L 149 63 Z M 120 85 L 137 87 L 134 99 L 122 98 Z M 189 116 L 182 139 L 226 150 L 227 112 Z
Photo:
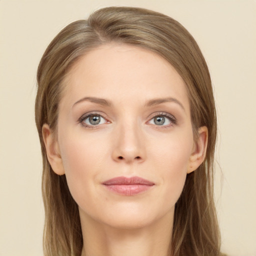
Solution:
M 81 97 L 135 102 L 176 97 L 188 107 L 185 83 L 174 67 L 158 54 L 133 45 L 109 43 L 85 53 L 64 80 L 61 101 Z

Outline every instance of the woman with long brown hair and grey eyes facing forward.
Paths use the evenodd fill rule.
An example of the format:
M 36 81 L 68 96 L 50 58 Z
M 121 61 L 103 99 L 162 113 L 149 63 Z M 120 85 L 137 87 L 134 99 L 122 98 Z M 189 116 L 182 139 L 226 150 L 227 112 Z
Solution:
M 37 83 L 45 255 L 221 255 L 210 75 L 182 25 L 97 10 L 52 40 Z

